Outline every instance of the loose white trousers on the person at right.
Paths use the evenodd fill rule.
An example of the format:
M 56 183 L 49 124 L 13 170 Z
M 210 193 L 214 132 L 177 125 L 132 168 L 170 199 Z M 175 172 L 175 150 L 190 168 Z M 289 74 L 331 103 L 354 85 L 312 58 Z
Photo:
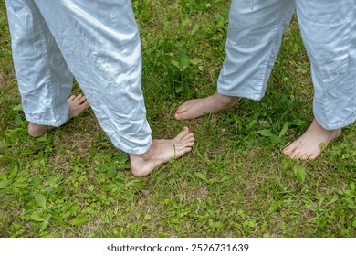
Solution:
M 295 9 L 311 61 L 315 118 L 328 130 L 354 123 L 356 0 L 233 0 L 217 92 L 252 100 L 264 96 Z

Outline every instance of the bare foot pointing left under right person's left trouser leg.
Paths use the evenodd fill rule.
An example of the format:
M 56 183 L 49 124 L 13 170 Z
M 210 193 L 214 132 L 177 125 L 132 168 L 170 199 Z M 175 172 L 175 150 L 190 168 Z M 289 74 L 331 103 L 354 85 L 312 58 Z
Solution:
M 204 99 L 186 101 L 175 112 L 175 119 L 194 119 L 204 114 L 221 112 L 234 107 L 238 98 L 215 93 Z

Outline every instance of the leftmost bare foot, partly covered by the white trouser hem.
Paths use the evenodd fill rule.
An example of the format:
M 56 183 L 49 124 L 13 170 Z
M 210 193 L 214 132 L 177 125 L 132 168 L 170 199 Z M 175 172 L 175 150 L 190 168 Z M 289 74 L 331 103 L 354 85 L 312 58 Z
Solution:
M 69 101 L 68 120 L 72 117 L 79 116 L 81 112 L 85 111 L 90 107 L 87 98 L 81 94 L 79 94 L 78 96 L 74 96 L 74 95 L 70 96 L 68 101 Z M 27 131 L 28 134 L 30 134 L 30 136 L 38 137 L 53 128 L 55 127 L 49 125 L 39 125 L 36 123 L 28 123 Z

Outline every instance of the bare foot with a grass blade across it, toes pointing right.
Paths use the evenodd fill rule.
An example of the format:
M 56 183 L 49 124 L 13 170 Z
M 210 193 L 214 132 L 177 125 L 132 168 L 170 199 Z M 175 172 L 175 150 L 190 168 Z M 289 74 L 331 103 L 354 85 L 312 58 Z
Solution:
M 187 127 L 172 140 L 153 140 L 145 154 L 130 154 L 131 172 L 134 176 L 148 176 L 157 166 L 190 152 L 193 144 L 194 134 Z

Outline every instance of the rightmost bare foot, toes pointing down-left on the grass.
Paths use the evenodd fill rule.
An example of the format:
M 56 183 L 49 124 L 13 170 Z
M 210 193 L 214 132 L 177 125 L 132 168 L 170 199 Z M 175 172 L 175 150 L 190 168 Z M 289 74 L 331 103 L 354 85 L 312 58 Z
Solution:
M 314 118 L 308 130 L 295 142 L 283 149 L 283 154 L 295 160 L 314 160 L 321 155 L 323 146 L 341 134 L 341 129 L 325 130 Z

